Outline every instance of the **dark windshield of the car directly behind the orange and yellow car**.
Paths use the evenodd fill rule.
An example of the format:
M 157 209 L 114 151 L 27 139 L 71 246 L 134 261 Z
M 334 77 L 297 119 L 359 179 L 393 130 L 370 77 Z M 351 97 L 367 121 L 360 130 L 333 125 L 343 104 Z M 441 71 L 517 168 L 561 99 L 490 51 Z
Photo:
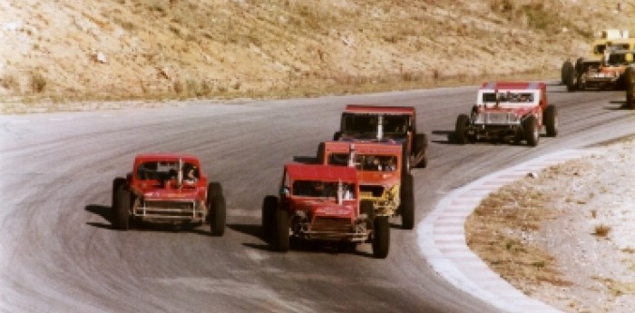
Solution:
M 344 113 L 342 115 L 342 131 L 356 138 L 376 138 L 377 124 L 380 114 L 354 114 Z M 391 138 L 405 137 L 410 125 L 408 115 L 386 115 L 383 114 L 384 135 Z

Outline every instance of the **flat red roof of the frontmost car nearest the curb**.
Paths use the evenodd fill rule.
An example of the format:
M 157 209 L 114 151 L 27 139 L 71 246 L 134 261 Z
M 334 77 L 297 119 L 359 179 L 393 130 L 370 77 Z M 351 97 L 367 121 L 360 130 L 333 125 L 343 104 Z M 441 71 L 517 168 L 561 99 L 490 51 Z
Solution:
M 289 178 L 295 181 L 357 182 L 357 171 L 347 166 L 287 163 L 285 170 Z

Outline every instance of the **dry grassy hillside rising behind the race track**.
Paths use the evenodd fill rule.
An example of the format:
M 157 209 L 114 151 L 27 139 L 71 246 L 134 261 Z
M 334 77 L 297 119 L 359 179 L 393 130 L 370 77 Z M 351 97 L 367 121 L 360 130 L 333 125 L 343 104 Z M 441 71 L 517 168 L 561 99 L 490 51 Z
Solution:
M 5 0 L 0 98 L 284 97 L 556 78 L 601 29 L 635 33 L 635 0 L 597 3 Z

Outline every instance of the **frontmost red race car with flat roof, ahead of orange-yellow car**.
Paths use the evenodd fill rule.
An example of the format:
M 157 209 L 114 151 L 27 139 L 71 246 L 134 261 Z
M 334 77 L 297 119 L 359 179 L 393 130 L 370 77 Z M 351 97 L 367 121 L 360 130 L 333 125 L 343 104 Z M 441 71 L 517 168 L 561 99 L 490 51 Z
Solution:
M 357 171 L 333 165 L 288 163 L 279 195 L 262 203 L 262 229 L 274 249 L 286 252 L 290 238 L 335 241 L 356 247 L 370 242 L 373 256 L 388 255 L 387 216 L 375 216 L 372 201 L 360 201 Z

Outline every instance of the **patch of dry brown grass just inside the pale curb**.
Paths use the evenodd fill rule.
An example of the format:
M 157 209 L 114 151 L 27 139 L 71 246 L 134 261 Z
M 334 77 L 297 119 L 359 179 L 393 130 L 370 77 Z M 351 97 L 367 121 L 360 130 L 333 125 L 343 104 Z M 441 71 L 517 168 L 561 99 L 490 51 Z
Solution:
M 548 176 L 541 179 L 549 180 Z M 553 256 L 523 240 L 523 236 L 539 230 L 543 221 L 557 216 L 554 210 L 543 207 L 558 195 L 542 190 L 541 179 L 526 178 L 493 192 L 465 222 L 465 240 L 470 249 L 521 289 L 541 283 L 570 284 L 556 270 Z

